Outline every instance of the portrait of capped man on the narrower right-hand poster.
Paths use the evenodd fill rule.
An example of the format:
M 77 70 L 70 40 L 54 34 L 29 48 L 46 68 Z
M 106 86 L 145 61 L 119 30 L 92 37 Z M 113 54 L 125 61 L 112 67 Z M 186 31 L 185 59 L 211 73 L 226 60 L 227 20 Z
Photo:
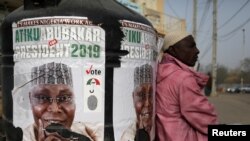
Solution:
M 136 121 L 125 130 L 121 141 L 150 141 L 153 126 L 153 68 L 149 64 L 134 70 L 133 103 Z

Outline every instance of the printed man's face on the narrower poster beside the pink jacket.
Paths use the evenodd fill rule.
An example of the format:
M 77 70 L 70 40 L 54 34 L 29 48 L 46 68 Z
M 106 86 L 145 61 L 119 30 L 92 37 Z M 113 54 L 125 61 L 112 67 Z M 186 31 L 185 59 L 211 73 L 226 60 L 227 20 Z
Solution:
M 144 83 L 136 87 L 133 93 L 134 107 L 137 116 L 137 126 L 150 132 L 153 115 L 153 87 L 151 83 Z

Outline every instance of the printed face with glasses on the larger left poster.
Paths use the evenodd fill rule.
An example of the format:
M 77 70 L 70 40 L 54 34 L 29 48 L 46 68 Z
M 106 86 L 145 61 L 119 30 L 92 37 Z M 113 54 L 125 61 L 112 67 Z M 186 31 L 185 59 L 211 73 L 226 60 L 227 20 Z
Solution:
M 70 129 L 75 115 L 72 87 L 65 84 L 35 85 L 29 97 L 36 127 L 40 119 L 43 128 L 51 123 L 59 123 Z

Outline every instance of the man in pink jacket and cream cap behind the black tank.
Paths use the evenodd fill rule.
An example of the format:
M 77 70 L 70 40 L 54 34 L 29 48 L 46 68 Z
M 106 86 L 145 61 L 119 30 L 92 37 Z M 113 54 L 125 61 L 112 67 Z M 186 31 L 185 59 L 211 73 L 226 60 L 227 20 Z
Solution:
M 208 76 L 192 67 L 199 50 L 192 35 L 167 33 L 158 65 L 156 140 L 206 141 L 208 125 L 217 123 L 212 104 L 203 93 Z

